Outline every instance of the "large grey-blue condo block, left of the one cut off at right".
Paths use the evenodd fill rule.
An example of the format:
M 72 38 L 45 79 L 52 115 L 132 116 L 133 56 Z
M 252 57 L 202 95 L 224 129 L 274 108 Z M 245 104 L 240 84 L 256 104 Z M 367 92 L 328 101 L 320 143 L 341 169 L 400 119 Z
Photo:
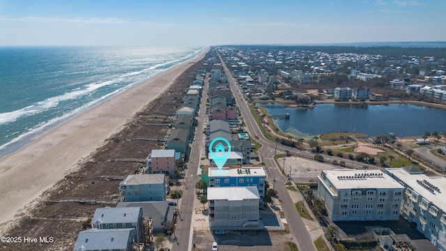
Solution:
M 332 221 L 398 220 L 403 189 L 379 170 L 325 170 L 318 176 L 318 196 Z

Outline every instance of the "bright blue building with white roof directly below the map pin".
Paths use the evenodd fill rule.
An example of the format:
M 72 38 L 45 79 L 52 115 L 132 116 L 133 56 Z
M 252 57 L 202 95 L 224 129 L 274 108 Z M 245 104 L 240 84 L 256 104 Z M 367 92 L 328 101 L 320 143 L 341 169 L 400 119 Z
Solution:
M 259 190 L 260 199 L 265 195 L 265 169 L 263 167 L 209 167 L 207 174 L 202 174 L 201 181 L 213 187 L 254 187 Z

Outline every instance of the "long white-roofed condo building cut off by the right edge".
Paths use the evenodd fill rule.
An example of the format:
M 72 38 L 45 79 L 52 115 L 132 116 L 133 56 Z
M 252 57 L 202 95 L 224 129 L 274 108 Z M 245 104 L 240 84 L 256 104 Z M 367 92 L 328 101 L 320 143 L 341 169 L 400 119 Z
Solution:
M 387 174 L 406 188 L 401 215 L 440 250 L 446 250 L 446 178 L 426 176 L 416 167 L 388 168 Z

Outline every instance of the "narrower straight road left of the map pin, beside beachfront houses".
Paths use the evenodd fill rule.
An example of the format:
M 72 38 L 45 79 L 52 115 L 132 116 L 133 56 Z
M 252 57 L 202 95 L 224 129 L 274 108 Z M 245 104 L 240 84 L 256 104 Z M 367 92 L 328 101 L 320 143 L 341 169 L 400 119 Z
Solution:
M 192 141 L 192 149 L 190 152 L 189 162 L 187 164 L 187 174 L 185 175 L 185 189 L 183 190 L 183 199 L 180 202 L 180 219 L 176 225 L 176 242 L 173 243 L 171 250 L 190 250 L 191 231 L 192 225 L 192 213 L 194 211 L 194 199 L 196 194 L 194 193 L 195 184 L 199 181 L 197 171 L 200 164 L 200 151 L 201 151 L 201 139 L 203 137 L 203 124 L 204 119 L 207 118 L 206 114 L 206 96 L 208 93 L 209 84 L 208 79 L 205 80 L 203 94 L 201 96 L 200 109 L 198 114 L 198 126 L 195 130 L 195 137 Z

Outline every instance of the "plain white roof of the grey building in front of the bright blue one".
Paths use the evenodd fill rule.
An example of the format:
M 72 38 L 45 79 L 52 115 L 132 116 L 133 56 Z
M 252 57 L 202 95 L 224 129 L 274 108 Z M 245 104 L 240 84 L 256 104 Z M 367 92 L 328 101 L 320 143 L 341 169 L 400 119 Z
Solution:
M 260 195 L 255 186 L 208 188 L 208 199 L 240 201 L 243 199 L 260 199 Z

